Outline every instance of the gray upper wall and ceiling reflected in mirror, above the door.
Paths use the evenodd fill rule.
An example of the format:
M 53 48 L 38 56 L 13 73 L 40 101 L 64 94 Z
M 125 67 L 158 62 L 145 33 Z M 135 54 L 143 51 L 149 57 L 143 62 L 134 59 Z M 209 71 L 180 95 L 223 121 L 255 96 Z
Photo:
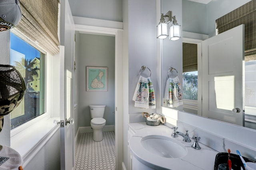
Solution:
M 183 31 L 215 35 L 215 20 L 246 4 L 250 0 L 212 0 L 201 4 L 182 0 Z

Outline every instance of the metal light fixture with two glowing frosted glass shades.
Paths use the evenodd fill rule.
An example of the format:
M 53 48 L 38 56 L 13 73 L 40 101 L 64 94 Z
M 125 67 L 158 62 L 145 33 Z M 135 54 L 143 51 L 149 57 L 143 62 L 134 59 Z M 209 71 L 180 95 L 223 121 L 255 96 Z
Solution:
M 172 19 L 172 25 L 169 26 L 169 23 L 172 21 Z M 172 11 L 168 11 L 165 15 L 161 14 L 160 22 L 156 27 L 157 38 L 159 39 L 165 39 L 169 36 L 170 40 L 175 41 L 181 37 L 181 26 L 177 23 L 176 16 L 172 16 Z

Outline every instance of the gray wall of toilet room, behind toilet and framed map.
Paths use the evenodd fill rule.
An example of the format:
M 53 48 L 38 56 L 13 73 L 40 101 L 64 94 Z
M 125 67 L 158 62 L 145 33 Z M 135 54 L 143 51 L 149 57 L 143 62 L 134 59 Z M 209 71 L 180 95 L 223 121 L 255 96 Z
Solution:
M 76 72 L 78 82 L 78 127 L 90 126 L 89 105 L 106 105 L 106 125 L 114 125 L 115 107 L 115 37 L 106 35 L 76 34 Z M 108 67 L 108 91 L 86 91 L 86 66 Z

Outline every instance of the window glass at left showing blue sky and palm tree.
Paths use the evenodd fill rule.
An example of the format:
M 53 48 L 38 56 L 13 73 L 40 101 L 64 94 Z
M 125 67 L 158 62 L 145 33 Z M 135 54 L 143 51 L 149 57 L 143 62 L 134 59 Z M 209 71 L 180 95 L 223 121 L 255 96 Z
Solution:
M 11 129 L 45 113 L 44 53 L 10 33 L 10 64 L 20 72 L 26 91 L 20 105 L 11 112 Z

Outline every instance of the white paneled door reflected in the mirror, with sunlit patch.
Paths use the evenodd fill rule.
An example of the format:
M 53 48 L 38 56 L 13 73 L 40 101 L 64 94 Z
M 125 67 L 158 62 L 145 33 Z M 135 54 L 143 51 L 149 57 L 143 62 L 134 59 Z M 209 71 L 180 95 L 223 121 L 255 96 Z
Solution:
M 203 116 L 243 126 L 243 62 L 244 25 L 202 42 Z

